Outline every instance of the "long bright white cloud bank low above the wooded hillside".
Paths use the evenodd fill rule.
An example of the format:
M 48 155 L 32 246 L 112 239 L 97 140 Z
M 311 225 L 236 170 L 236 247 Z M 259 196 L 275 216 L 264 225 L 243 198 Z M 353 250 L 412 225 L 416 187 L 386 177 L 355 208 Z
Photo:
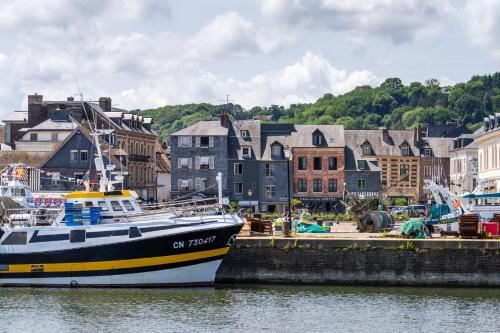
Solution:
M 323 94 L 340 94 L 381 80 L 368 70 L 347 72 L 320 55 L 306 53 L 284 68 L 255 75 L 248 80 L 226 79 L 203 70 L 176 71 L 138 88 L 115 94 L 132 108 L 145 105 L 216 101 L 230 93 L 244 107 L 314 102 Z

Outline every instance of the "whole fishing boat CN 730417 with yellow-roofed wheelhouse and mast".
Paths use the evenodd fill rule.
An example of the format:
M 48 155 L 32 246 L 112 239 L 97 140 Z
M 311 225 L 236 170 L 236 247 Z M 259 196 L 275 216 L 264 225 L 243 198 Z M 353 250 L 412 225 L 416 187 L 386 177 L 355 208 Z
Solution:
M 98 135 L 98 134 L 97 134 Z M 98 136 L 98 192 L 73 192 L 62 209 L 17 209 L 0 224 L 0 286 L 143 287 L 213 284 L 243 226 L 218 200 L 141 207 L 114 190 Z M 0 219 L 1 223 L 2 219 Z

